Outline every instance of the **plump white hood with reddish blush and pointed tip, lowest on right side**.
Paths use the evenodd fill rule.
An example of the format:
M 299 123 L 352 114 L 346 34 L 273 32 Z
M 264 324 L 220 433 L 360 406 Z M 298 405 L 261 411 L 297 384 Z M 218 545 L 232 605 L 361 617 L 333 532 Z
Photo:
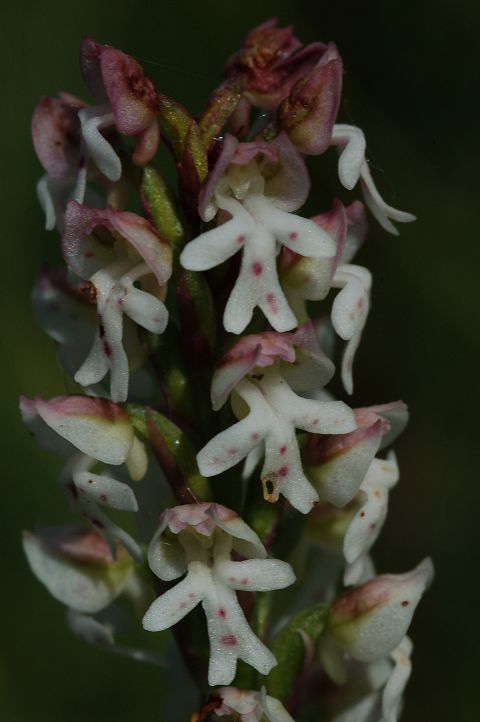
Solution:
M 433 578 L 431 559 L 406 574 L 385 574 L 346 592 L 332 605 L 329 632 L 361 662 L 390 654 L 410 626 L 415 608 Z

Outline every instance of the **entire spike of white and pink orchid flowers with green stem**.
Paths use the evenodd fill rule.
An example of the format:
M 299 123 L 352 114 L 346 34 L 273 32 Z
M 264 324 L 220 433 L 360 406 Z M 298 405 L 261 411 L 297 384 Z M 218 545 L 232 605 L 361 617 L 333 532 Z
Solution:
M 20 408 L 65 458 L 83 525 L 26 532 L 30 567 L 90 643 L 164 665 L 147 632 L 171 628 L 205 695 L 192 722 L 293 722 L 321 703 L 335 722 L 395 722 L 432 564 L 377 576 L 370 552 L 400 476 L 383 449 L 408 412 L 352 409 L 328 385 L 338 337 L 353 392 L 367 210 L 393 234 L 414 217 L 381 198 L 363 132 L 337 123 L 338 50 L 268 21 L 197 119 L 115 48 L 87 38 L 80 65 L 93 104 L 45 97 L 32 124 L 66 263 L 42 271 L 34 305 L 77 386 Z M 178 195 L 154 165 L 161 139 Z M 332 147 L 363 202 L 306 218 L 306 156 Z M 116 639 L 126 602 L 139 648 Z M 323 673 L 330 688 L 312 684 Z

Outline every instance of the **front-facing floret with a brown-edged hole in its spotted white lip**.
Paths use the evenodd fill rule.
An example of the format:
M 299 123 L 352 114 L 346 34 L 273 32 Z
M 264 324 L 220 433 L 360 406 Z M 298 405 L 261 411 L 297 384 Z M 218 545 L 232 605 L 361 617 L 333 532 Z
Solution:
M 295 509 L 305 514 L 318 495 L 303 472 L 295 429 L 336 435 L 356 428 L 353 412 L 343 402 L 303 398 L 289 385 L 291 380 L 292 386 L 298 388 L 295 382 L 301 380 L 301 390 L 308 391 L 307 381 L 313 388 L 319 388 L 331 377 L 331 362 L 315 353 L 312 345 L 302 369 L 301 347 L 312 344 L 312 336 L 313 330 L 307 326 L 295 334 L 254 334 L 238 341 L 214 373 L 212 402 L 214 409 L 218 409 L 234 391 L 233 409 L 241 420 L 217 434 L 197 456 L 200 472 L 214 476 L 237 464 L 264 442 L 261 478 L 265 499 L 274 502 L 283 494 Z M 296 345 L 299 351 L 295 351 Z M 281 365 L 282 361 L 286 363 Z M 316 366 L 317 374 L 310 370 L 302 379 L 302 370 L 307 371 L 308 366 Z

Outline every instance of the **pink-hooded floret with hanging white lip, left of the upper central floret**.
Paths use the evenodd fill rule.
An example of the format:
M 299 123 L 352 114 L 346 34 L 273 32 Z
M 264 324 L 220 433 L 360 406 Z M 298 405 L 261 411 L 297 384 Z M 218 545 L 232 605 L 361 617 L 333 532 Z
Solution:
M 165 330 L 170 246 L 134 213 L 94 210 L 75 201 L 67 208 L 62 244 L 70 269 L 87 283 L 97 306 L 93 345 L 75 381 L 90 386 L 110 371 L 112 400 L 125 401 L 129 362 L 122 342 L 123 314 L 151 333 Z M 144 279 L 143 289 L 135 286 L 139 279 Z

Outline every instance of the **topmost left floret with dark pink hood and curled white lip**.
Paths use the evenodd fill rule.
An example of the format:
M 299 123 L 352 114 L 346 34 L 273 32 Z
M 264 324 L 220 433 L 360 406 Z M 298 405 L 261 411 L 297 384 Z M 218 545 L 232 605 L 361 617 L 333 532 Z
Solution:
M 82 42 L 80 67 L 98 103 L 78 113 L 82 138 L 100 172 L 117 181 L 122 164 L 101 131 L 115 127 L 122 135 L 133 135 L 133 162 L 149 163 L 160 140 L 157 93 L 136 60 L 116 48 L 99 45 L 92 38 Z

